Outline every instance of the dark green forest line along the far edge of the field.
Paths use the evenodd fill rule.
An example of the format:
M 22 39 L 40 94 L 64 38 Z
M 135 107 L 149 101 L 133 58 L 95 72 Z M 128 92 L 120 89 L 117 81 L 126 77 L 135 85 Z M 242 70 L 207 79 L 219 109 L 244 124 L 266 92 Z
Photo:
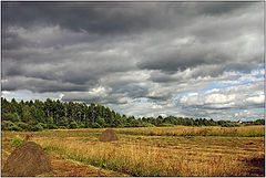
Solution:
M 253 122 L 264 125 L 264 119 Z M 154 127 L 154 126 L 239 126 L 228 121 L 184 117 L 140 117 L 121 115 L 101 104 L 90 105 L 79 102 L 61 102 L 47 98 L 42 102 L 20 101 L 9 102 L 1 97 L 2 130 L 43 130 L 66 128 L 104 128 L 104 127 Z

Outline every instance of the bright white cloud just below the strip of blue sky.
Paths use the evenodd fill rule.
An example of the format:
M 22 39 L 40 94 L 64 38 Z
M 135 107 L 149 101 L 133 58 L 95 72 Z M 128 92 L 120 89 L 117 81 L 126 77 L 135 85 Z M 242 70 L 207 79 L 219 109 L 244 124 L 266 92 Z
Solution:
M 226 88 L 214 88 L 201 94 L 181 96 L 178 103 L 185 106 L 202 106 L 211 108 L 250 107 L 263 105 L 264 93 L 262 83 Z

